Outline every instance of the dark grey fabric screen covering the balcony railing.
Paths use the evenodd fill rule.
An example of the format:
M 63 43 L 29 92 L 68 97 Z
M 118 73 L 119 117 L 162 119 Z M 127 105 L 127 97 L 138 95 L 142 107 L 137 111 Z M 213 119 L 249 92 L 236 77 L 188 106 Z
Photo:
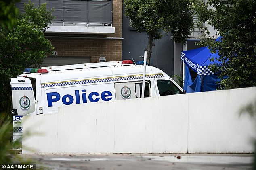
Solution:
M 112 23 L 113 0 L 30 0 L 34 7 L 46 3 L 46 8 L 54 8 L 52 23 Z M 21 0 L 15 6 L 25 12 Z

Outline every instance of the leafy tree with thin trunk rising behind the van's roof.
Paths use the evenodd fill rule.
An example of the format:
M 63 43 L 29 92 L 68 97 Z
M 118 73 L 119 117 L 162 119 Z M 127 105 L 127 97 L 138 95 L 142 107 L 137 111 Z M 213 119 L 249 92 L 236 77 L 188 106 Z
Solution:
M 147 62 L 150 64 L 153 40 L 162 37 L 160 30 L 171 32 L 172 40 L 185 42 L 193 28 L 189 0 L 124 0 L 125 16 L 137 32 L 148 36 Z

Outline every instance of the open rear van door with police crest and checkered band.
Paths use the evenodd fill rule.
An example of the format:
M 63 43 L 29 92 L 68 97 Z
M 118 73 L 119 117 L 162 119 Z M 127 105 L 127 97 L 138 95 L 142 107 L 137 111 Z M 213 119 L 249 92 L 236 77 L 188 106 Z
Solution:
M 11 78 L 13 115 L 27 115 L 36 112 L 36 103 L 31 80 L 24 77 Z

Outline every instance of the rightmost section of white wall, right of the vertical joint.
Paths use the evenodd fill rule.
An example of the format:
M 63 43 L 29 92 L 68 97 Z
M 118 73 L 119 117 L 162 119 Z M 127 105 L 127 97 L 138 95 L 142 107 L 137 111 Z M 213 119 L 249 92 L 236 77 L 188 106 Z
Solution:
M 254 152 L 256 120 L 246 114 L 239 116 L 239 111 L 255 99 L 255 87 L 190 96 L 189 153 Z

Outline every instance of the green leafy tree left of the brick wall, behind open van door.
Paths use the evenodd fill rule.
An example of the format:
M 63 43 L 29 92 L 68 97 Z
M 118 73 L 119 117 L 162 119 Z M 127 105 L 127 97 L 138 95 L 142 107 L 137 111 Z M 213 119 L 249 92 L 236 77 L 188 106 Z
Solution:
M 51 23 L 52 10 L 46 4 L 35 8 L 31 2 L 25 4 L 25 13 L 17 16 L 13 29 L 0 27 L 0 112 L 11 109 L 10 78 L 22 74 L 24 68 L 38 67 L 53 47 L 44 37 Z

